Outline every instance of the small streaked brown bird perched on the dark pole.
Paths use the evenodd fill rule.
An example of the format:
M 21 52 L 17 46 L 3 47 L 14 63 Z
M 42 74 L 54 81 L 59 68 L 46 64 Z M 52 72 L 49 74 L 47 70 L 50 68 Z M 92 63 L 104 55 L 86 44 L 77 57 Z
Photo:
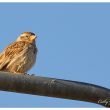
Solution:
M 37 36 L 23 32 L 15 42 L 8 45 L 0 54 L 0 71 L 14 74 L 27 74 L 36 62 L 38 49 Z

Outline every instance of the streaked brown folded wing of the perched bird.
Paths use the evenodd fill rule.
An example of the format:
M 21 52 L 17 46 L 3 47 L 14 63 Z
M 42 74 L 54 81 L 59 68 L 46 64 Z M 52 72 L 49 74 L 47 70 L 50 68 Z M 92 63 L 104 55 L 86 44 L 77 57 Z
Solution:
M 24 50 L 28 45 L 27 42 L 19 41 L 10 44 L 4 51 L 0 54 L 0 69 L 6 66 L 16 55 Z

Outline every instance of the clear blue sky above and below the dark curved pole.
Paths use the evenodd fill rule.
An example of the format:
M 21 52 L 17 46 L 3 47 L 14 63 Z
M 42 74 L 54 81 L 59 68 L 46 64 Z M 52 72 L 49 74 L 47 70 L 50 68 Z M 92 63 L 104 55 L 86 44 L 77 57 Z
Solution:
M 0 3 L 0 52 L 34 32 L 38 76 L 110 88 L 110 4 Z M 102 107 L 82 101 L 0 91 L 0 107 Z

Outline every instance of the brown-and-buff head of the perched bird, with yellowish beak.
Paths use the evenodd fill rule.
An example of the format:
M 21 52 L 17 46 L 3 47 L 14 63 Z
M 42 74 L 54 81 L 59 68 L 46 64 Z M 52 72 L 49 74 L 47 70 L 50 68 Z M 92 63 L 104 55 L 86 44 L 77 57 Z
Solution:
M 32 32 L 23 32 L 18 38 L 17 41 L 27 41 L 34 43 L 36 40 L 36 35 Z

